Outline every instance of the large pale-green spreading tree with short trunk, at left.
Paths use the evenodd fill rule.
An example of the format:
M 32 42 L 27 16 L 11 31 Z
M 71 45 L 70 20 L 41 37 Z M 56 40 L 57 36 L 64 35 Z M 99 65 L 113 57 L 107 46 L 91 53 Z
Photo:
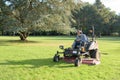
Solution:
M 31 31 L 57 31 L 68 34 L 71 30 L 71 10 L 74 0 L 1 0 L 7 7 L 4 16 L 10 18 L 3 23 L 7 30 L 19 34 L 26 40 Z M 6 18 L 4 18 L 6 19 Z

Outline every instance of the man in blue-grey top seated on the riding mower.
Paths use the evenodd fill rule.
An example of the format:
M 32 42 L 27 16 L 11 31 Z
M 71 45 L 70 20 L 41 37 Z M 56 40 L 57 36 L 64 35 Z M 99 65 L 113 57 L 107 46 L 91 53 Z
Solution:
M 72 48 L 73 49 L 80 48 L 81 46 L 84 46 L 87 42 L 88 42 L 87 36 L 83 34 L 81 30 L 78 30 Z

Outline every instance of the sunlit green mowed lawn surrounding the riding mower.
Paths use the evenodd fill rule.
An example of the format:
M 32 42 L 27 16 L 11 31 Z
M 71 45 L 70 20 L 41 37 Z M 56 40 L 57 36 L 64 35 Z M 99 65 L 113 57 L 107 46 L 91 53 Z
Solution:
M 0 37 L 0 80 L 120 80 L 120 37 L 97 39 L 100 65 L 74 67 L 52 58 L 58 46 L 70 47 L 75 37 Z

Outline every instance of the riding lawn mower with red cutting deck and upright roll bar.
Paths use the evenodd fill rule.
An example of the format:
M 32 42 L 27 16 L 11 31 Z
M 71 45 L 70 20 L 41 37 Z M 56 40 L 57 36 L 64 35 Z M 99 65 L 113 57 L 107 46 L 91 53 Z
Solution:
M 74 66 L 80 66 L 81 64 L 100 64 L 100 52 L 94 36 L 94 27 L 92 27 L 92 40 L 84 45 L 78 42 L 75 48 L 64 48 L 63 45 L 60 45 L 59 48 L 62 52 L 57 51 L 53 57 L 54 62 L 64 60 L 68 63 L 74 63 Z M 63 54 L 63 57 L 60 57 L 60 54 Z

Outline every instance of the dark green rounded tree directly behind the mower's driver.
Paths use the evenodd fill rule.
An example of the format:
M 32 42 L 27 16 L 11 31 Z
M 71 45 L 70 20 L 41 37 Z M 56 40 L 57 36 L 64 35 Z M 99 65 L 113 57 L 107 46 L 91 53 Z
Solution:
M 97 11 L 97 8 L 85 3 L 79 10 L 73 11 L 73 18 L 77 29 L 88 31 L 91 26 L 98 26 L 101 24 L 102 18 Z

